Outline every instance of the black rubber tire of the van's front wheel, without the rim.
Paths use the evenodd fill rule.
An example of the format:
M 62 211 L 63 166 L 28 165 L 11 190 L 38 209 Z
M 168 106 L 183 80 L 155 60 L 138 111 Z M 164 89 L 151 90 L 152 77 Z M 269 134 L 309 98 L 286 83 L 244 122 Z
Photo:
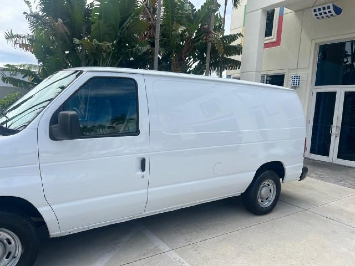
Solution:
M 0 228 L 11 231 L 20 239 L 22 250 L 16 266 L 32 266 L 39 249 L 39 237 L 32 220 L 21 213 L 0 210 Z

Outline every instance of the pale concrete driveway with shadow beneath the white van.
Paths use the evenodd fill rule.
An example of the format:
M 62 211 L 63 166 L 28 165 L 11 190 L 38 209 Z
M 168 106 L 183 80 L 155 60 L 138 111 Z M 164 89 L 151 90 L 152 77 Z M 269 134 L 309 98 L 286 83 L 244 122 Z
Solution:
M 36 266 L 355 265 L 355 190 L 312 178 L 282 186 L 275 210 L 231 198 L 42 244 Z

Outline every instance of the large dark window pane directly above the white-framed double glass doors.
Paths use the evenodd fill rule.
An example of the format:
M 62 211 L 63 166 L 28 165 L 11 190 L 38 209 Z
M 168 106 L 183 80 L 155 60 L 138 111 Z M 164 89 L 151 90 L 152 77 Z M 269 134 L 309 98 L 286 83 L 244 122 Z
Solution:
M 355 84 L 355 40 L 319 48 L 316 86 Z

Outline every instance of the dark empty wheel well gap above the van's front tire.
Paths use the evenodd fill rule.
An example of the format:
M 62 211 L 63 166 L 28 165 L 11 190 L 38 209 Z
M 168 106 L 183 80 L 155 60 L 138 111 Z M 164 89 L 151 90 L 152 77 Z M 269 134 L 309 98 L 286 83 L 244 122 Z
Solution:
M 1 196 L 0 206 L 0 209 L 6 209 L 8 211 L 19 211 L 23 214 L 26 214 L 28 217 L 44 220 L 36 207 L 22 198 Z

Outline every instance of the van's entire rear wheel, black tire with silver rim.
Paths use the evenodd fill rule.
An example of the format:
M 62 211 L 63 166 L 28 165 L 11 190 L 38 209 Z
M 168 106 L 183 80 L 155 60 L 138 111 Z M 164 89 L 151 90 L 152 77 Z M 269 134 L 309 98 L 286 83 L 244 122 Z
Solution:
M 242 200 L 246 209 L 253 214 L 268 214 L 276 206 L 280 190 L 281 183 L 278 174 L 265 170 L 257 173 L 253 182 L 242 194 Z

